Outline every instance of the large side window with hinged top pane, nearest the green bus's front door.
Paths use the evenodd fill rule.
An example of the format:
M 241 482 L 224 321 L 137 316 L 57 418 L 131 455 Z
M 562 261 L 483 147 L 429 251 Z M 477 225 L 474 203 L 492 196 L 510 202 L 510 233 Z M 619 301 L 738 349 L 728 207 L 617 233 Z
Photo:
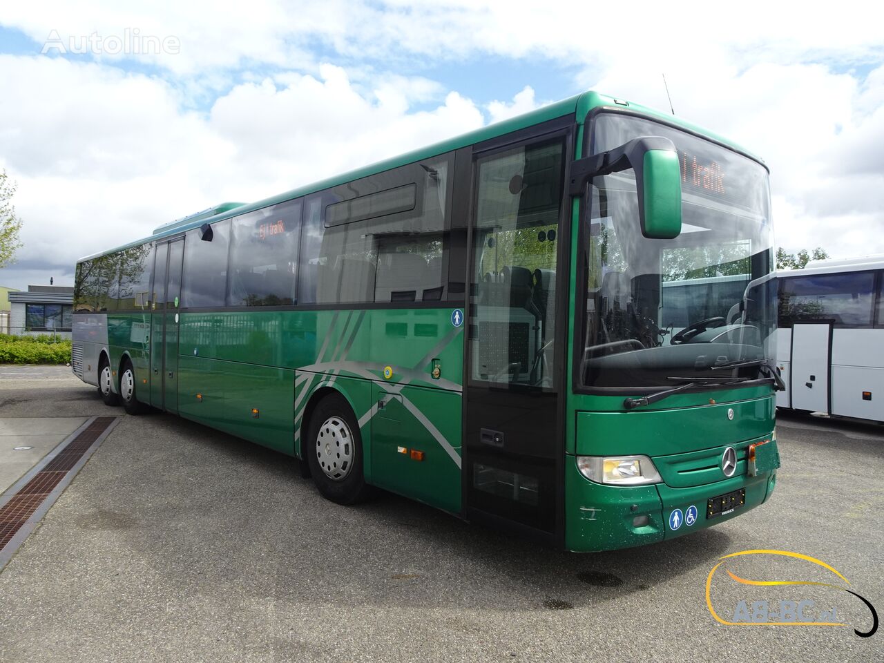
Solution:
M 301 302 L 447 299 L 451 156 L 310 196 Z

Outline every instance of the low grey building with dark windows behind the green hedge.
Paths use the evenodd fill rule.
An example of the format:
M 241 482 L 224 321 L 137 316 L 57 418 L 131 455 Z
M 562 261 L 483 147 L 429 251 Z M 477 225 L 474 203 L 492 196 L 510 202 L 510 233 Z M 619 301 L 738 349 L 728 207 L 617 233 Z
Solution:
M 11 334 L 57 334 L 71 338 L 73 288 L 27 286 L 26 292 L 10 292 Z

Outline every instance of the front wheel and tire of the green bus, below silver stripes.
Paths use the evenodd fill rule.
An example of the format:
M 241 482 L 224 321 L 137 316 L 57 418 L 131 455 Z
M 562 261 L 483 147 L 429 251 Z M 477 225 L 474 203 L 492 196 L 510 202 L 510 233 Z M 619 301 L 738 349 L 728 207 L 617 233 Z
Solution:
M 329 394 L 319 401 L 305 442 L 313 483 L 325 499 L 348 505 L 370 496 L 362 473 L 362 436 L 343 396 Z

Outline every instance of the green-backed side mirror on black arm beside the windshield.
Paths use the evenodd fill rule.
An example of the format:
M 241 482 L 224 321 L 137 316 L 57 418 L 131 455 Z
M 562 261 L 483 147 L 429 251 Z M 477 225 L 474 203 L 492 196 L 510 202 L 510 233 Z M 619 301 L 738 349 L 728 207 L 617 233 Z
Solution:
M 639 136 L 619 148 L 571 164 L 571 195 L 583 194 L 593 177 L 632 169 L 636 173 L 638 218 L 642 234 L 671 240 L 682 232 L 682 171 L 668 138 Z

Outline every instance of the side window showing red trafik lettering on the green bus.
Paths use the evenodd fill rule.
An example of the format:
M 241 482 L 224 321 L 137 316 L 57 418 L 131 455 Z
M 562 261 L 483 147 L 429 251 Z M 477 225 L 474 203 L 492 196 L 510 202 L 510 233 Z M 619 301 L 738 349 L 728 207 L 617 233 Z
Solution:
M 233 219 L 230 306 L 296 303 L 301 202 L 284 202 Z

